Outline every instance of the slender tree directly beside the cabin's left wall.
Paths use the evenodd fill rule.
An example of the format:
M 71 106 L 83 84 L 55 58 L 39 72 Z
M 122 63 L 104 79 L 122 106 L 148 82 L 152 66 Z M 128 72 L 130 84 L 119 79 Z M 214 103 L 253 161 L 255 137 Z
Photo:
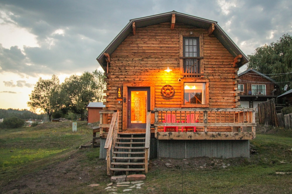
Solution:
M 94 76 L 94 81 L 96 83 L 96 101 L 97 102 L 103 102 L 103 96 L 105 96 L 105 93 L 103 92 L 106 89 L 107 82 L 105 82 L 105 75 L 98 71 L 97 69 L 92 72 Z

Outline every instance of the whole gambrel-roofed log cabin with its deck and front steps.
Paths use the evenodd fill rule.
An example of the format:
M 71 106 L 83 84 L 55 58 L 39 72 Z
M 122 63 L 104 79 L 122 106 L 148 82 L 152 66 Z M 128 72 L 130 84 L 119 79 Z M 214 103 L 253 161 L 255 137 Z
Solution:
M 217 22 L 176 11 L 133 19 L 97 61 L 109 175 L 147 173 L 156 157 L 249 157 L 255 109 L 238 108 L 237 90 L 248 58 Z

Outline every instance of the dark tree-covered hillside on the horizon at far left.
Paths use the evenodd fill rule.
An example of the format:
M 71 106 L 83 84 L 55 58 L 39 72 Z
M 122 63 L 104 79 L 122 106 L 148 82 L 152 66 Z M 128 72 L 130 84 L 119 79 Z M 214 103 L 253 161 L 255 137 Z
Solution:
M 18 117 L 20 119 L 44 119 L 45 114 L 36 114 L 27 109 L 0 109 L 0 119 Z

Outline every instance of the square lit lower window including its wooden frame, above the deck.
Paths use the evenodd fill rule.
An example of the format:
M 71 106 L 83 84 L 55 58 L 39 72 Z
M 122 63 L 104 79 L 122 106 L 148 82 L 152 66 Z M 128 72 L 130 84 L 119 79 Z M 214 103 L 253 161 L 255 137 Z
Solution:
M 184 82 L 183 104 L 187 107 L 206 107 L 208 100 L 208 82 Z

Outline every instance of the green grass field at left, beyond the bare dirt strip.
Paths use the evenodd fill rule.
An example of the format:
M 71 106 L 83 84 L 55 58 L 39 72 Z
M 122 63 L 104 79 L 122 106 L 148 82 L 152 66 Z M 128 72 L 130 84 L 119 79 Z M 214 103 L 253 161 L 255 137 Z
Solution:
M 92 130 L 85 122 L 79 122 L 77 125 L 77 132 L 72 132 L 72 123 L 69 122 L 1 129 L 0 187 L 9 180 L 64 160 L 70 151 L 90 141 Z

